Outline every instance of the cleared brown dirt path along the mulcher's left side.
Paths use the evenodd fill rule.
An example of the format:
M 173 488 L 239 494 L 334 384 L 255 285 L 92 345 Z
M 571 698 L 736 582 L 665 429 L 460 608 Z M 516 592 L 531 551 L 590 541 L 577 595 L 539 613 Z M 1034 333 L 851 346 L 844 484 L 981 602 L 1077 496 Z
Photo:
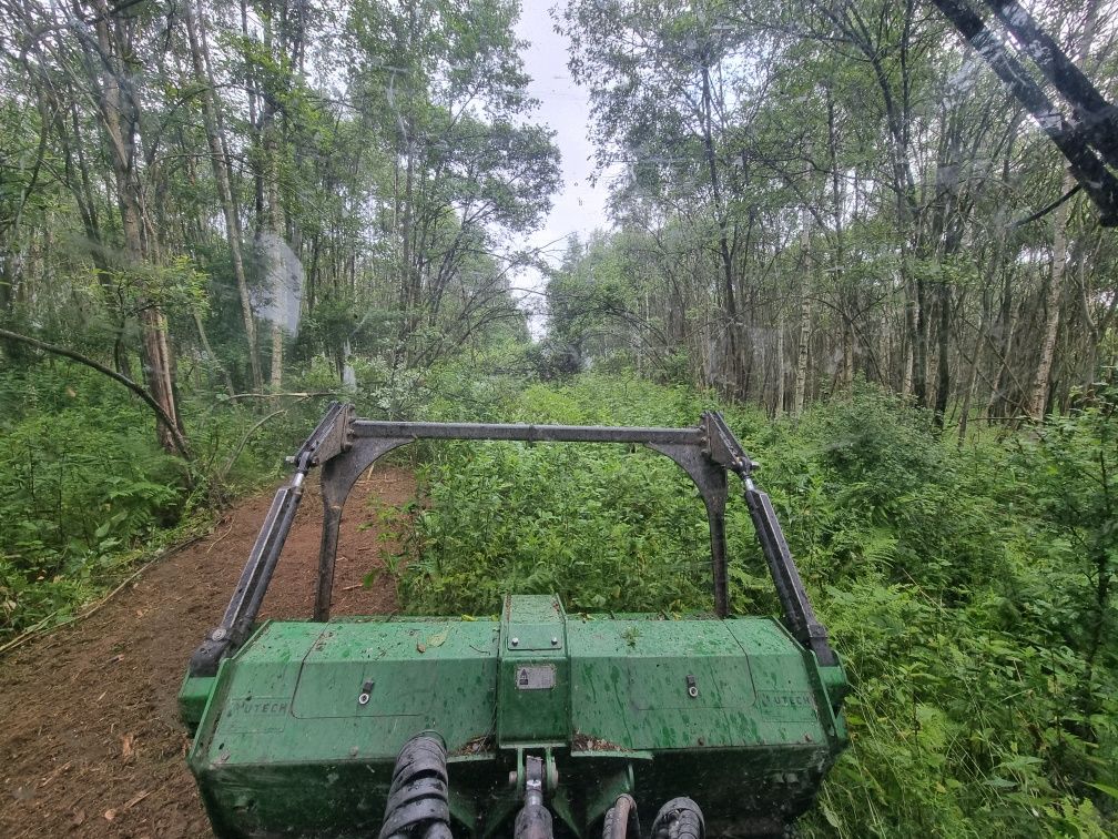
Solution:
M 322 507 L 309 481 L 263 615 L 309 618 Z M 415 480 L 382 466 L 354 488 L 342 519 L 335 614 L 396 606 L 371 506 L 401 505 Z M 183 760 L 176 695 L 187 659 L 220 619 L 271 503 L 238 505 L 212 534 L 158 565 L 73 629 L 0 659 L 0 836 L 196 837 L 209 823 Z

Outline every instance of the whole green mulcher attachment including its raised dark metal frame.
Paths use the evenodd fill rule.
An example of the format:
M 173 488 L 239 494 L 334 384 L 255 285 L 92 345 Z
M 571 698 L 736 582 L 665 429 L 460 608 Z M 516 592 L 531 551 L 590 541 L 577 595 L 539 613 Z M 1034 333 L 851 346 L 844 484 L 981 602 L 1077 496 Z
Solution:
M 568 614 L 557 596 L 510 595 L 498 620 L 331 620 L 345 498 L 420 439 L 639 443 L 671 458 L 707 506 L 713 613 Z M 179 695 L 217 835 L 778 836 L 812 807 L 847 743 L 846 678 L 756 464 L 718 414 L 691 428 L 533 426 L 372 422 L 333 405 L 290 460 L 295 475 Z M 313 466 L 314 620 L 257 624 Z M 745 484 L 780 620 L 730 613 L 728 472 Z

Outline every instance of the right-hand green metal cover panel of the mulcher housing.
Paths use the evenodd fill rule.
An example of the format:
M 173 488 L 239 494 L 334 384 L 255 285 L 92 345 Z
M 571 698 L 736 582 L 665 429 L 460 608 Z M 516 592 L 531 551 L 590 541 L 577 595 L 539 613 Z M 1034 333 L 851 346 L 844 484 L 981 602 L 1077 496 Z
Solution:
M 568 645 L 586 751 L 824 741 L 803 650 L 770 620 L 572 621 Z

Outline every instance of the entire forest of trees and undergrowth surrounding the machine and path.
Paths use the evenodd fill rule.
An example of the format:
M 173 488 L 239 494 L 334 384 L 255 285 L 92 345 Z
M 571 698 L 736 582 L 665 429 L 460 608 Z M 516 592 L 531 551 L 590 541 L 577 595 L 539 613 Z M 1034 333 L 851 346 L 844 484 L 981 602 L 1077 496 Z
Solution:
M 1118 235 L 931 3 L 548 6 L 0 0 L 0 645 L 274 480 L 329 399 L 719 407 L 854 685 L 803 831 L 1112 835 Z M 1029 7 L 1114 102 L 1112 6 Z M 561 260 L 544 15 L 609 195 Z M 376 519 L 405 607 L 705 607 L 693 489 L 623 456 L 421 450 Z M 735 607 L 773 612 L 729 518 Z

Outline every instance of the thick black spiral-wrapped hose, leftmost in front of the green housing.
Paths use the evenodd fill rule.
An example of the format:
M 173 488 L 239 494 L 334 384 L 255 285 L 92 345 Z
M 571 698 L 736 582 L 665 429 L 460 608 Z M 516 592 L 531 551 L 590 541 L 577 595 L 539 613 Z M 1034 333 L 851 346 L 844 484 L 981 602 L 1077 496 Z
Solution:
M 449 839 L 446 793 L 446 745 L 437 734 L 418 734 L 396 756 L 379 839 Z

